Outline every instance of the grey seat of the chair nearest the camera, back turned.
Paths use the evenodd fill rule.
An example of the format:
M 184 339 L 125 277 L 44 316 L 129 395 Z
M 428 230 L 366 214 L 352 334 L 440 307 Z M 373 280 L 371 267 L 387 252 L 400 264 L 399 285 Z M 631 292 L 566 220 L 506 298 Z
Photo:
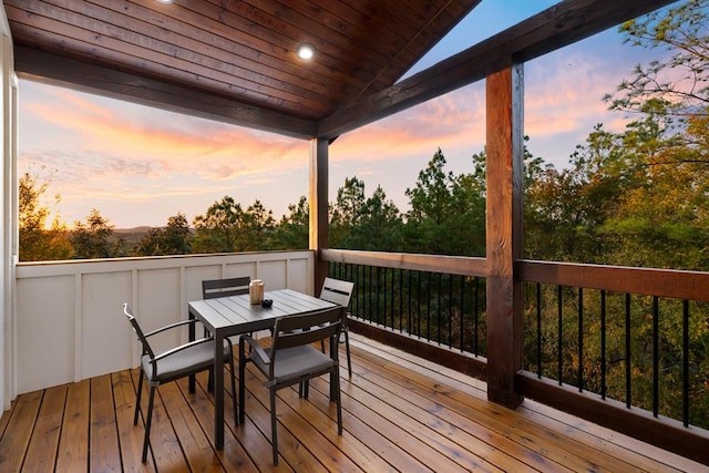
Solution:
M 254 357 L 254 363 L 264 374 L 268 376 L 269 366 L 267 363 L 264 363 L 258 357 Z M 333 364 L 335 361 L 329 356 L 309 345 L 278 350 L 274 367 L 274 383 L 278 384 L 309 373 L 326 371 Z

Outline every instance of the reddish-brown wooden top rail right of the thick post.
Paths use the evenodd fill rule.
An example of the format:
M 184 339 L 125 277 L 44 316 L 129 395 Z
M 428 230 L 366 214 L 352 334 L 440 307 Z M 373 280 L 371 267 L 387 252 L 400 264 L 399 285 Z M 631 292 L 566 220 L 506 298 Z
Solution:
M 709 302 L 709 273 L 520 260 L 520 280 Z

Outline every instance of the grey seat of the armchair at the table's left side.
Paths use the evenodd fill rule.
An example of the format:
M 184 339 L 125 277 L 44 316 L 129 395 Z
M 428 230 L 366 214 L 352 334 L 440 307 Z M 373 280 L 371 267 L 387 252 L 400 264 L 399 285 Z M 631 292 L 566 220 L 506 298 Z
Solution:
M 224 341 L 224 357 L 229 357 L 229 345 Z M 147 354 L 142 358 L 143 371 L 151 382 L 164 383 L 196 371 L 208 370 L 214 364 L 214 341 L 205 341 L 157 360 L 157 374 Z

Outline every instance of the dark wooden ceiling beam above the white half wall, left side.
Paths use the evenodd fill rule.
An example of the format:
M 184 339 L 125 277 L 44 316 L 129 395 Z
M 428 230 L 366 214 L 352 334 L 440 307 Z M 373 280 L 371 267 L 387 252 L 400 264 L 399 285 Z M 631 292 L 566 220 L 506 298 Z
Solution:
M 129 100 L 171 112 L 309 140 L 317 123 L 237 102 L 189 86 L 120 72 L 61 55 L 14 45 L 18 75 L 81 92 Z

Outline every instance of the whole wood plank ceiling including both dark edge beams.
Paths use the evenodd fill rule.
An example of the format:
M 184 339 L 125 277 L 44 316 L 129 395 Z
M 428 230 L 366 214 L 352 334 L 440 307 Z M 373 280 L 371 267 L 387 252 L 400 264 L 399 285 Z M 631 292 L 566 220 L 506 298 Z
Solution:
M 399 81 L 481 1 L 3 4 L 21 78 L 289 136 L 332 138 L 675 0 L 565 0 Z M 317 50 L 309 62 L 295 54 L 301 42 Z

